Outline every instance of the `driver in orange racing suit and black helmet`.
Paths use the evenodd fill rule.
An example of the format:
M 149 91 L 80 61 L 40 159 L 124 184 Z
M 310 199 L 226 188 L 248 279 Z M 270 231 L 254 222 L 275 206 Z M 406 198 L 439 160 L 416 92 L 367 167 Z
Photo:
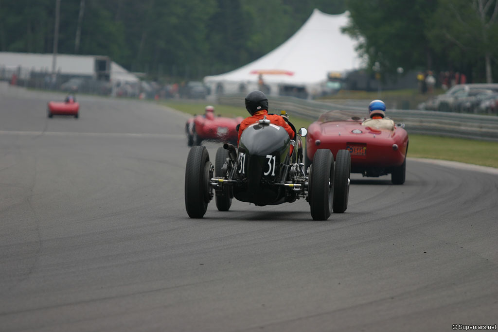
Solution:
M 246 110 L 248 110 L 251 116 L 246 117 L 241 122 L 237 145 L 239 145 L 244 129 L 249 127 L 251 124 L 256 123 L 258 120 L 262 120 L 265 115 L 271 123 L 283 127 L 289 134 L 290 139 L 294 139 L 296 133 L 281 115 L 268 114 L 268 99 L 266 99 L 266 96 L 261 91 L 252 91 L 246 96 Z

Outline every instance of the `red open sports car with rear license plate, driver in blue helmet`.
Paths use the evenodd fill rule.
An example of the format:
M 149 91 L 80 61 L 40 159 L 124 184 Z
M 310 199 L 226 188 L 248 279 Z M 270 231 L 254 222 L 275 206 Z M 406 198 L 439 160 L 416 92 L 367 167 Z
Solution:
M 305 168 L 313 162 L 317 149 L 351 153 L 351 173 L 367 177 L 391 174 L 393 184 L 405 182 L 408 133 L 404 124 L 385 118 L 372 121 L 350 111 L 329 111 L 310 124 L 306 136 Z

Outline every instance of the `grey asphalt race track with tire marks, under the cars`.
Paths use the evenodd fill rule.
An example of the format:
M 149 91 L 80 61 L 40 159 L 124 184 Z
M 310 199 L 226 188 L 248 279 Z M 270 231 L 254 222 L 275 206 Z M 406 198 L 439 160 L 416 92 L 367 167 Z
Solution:
M 328 221 L 304 200 L 194 220 L 186 115 L 77 96 L 47 118 L 63 96 L 0 85 L 0 331 L 498 324 L 496 170 L 409 159 L 402 186 L 354 175 Z

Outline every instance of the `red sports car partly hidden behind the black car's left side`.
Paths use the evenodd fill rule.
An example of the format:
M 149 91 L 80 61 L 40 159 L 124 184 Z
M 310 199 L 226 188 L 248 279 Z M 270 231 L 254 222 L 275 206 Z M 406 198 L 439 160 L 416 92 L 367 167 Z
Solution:
M 237 145 L 237 125 L 244 118 L 215 116 L 213 112 L 197 115 L 187 120 L 185 132 L 187 134 L 187 144 L 201 145 L 202 141 L 209 140 Z

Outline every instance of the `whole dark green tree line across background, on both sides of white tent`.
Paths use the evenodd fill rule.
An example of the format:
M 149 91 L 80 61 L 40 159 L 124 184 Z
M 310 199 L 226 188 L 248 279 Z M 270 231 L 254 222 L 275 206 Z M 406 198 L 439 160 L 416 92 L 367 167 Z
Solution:
M 0 0 L 0 50 L 51 53 L 55 2 Z M 344 31 L 361 40 L 369 70 L 497 77 L 498 0 L 61 0 L 58 51 L 108 55 L 152 77 L 202 77 L 271 51 L 313 8 L 350 11 Z

